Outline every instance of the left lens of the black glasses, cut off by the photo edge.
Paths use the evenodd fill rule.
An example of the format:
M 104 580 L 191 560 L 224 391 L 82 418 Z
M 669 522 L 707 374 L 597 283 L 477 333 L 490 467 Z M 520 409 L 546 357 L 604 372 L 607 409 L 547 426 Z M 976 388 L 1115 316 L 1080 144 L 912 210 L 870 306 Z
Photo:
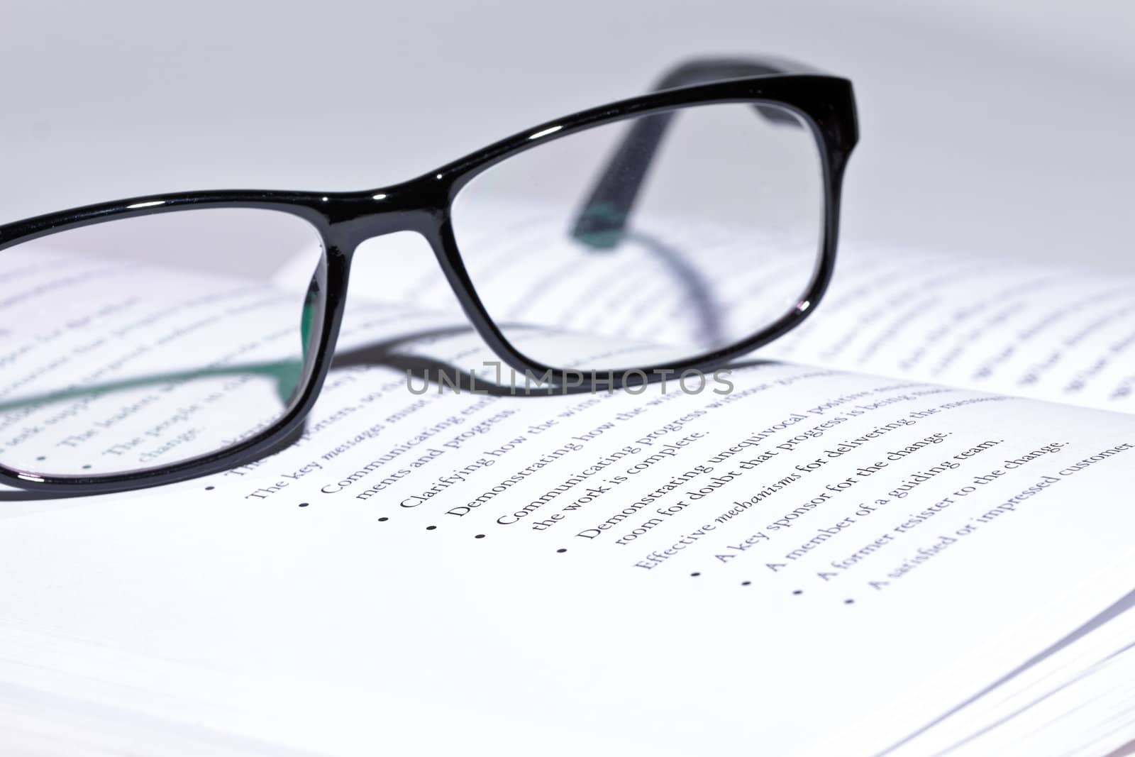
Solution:
M 297 254 L 305 280 L 272 284 Z M 237 256 L 264 275 L 209 272 Z M 309 373 L 322 261 L 314 227 L 259 209 L 162 212 L 0 250 L 0 463 L 106 476 L 264 430 Z

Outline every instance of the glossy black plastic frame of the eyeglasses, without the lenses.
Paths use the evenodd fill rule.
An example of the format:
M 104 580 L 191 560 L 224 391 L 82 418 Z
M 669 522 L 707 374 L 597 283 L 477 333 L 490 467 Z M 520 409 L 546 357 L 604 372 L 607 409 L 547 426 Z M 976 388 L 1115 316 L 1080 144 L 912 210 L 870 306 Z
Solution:
M 709 371 L 729 360 L 755 350 L 781 336 L 806 318 L 827 288 L 835 263 L 839 235 L 840 191 L 843 171 L 858 140 L 855 99 L 851 83 L 844 78 L 819 74 L 813 69 L 771 58 L 698 59 L 674 68 L 650 94 L 591 108 L 526 129 L 434 171 L 401 184 L 363 192 L 276 192 L 276 191 L 207 191 L 187 194 L 161 194 L 87 205 L 58 213 L 0 226 L 0 251 L 22 242 L 57 232 L 134 216 L 163 213 L 203 208 L 261 208 L 299 216 L 319 232 L 325 246 L 325 264 L 319 271 L 326 287 L 316 352 L 305 372 L 305 382 L 288 411 L 271 427 L 225 449 L 185 460 L 179 463 L 140 471 L 107 476 L 40 476 L 0 465 L 0 483 L 57 495 L 104 494 L 171 483 L 217 473 L 247 463 L 278 448 L 303 423 L 322 387 L 331 364 L 335 343 L 346 302 L 351 260 L 356 246 L 365 239 L 395 232 L 417 232 L 429 242 L 446 279 L 476 330 L 488 346 L 518 371 L 537 376 L 550 372 L 556 385 L 574 382 L 579 371 L 556 369 L 533 362 L 516 351 L 488 317 L 473 289 L 451 224 L 451 204 L 461 188 L 474 176 L 496 162 L 539 144 L 565 137 L 603 124 L 640 118 L 637 125 L 654 124 L 661 136 L 669 121 L 667 111 L 698 104 L 750 102 L 765 117 L 775 118 L 776 106 L 793 113 L 809 128 L 816 140 L 824 171 L 824 228 L 818 262 L 805 295 L 796 309 L 780 320 L 726 348 L 690 360 L 661 365 L 641 367 L 644 371 Z M 632 131 L 633 134 L 633 131 Z M 641 138 L 641 135 L 639 136 Z M 641 153 L 640 153 L 641 154 Z M 620 158 L 615 158 L 617 162 Z M 638 167 L 640 176 L 646 166 Z M 609 171 L 608 171 L 609 173 Z M 622 216 L 614 226 L 597 228 L 581 217 L 575 234 L 596 230 L 615 232 L 630 212 L 637 187 L 628 196 L 614 196 L 604 190 L 600 177 L 589 201 L 606 200 L 621 207 Z M 585 204 L 585 208 L 588 207 Z M 622 380 L 616 375 L 613 386 Z

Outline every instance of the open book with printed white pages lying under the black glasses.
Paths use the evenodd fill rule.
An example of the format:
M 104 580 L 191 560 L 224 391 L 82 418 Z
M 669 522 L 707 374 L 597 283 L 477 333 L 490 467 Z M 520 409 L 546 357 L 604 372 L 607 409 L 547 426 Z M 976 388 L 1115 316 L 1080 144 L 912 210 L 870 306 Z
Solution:
M 675 249 L 735 244 L 671 233 Z M 400 264 L 429 270 L 426 254 Z M 6 493 L 0 750 L 1120 749 L 1135 739 L 1133 281 L 841 256 L 818 312 L 722 384 L 524 397 L 491 373 L 423 381 L 438 365 L 486 378 L 491 355 L 443 283 L 400 289 L 360 254 L 338 367 L 292 446 L 125 496 Z M 44 277 L 94 296 L 52 267 L 12 287 Z M 232 304 L 202 279 L 179 317 L 176 287 L 132 280 L 135 300 L 162 293 L 163 343 L 202 338 L 185 325 Z M 633 271 L 592 289 L 614 320 L 629 294 L 612 281 Z M 539 306 L 503 281 L 510 295 L 519 320 Z M 43 376 L 19 363 L 35 354 L 20 335 L 5 360 Z M 270 356 L 255 335 L 246 347 L 233 367 Z M 129 363 L 84 360 L 106 363 L 100 380 Z M 160 428 L 175 405 L 124 418 Z M 92 456 L 106 441 L 69 436 Z

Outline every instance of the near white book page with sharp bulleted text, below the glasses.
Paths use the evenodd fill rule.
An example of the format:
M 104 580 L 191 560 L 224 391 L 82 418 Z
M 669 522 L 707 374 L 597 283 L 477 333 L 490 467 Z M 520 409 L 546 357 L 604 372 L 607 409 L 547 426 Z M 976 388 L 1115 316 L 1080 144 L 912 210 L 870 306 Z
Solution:
M 339 372 L 275 457 L 8 519 L 3 680 L 76 742 L 162 754 L 791 754 L 874 715 L 841 741 L 869 754 L 1128 589 L 1126 417 L 792 365 L 733 380 L 714 406 L 673 387 L 419 397 L 389 369 Z

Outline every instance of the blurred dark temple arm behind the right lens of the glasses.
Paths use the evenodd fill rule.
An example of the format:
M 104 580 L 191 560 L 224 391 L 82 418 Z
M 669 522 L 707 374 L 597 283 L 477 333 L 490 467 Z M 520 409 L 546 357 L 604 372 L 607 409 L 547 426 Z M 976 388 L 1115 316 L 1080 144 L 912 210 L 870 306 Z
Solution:
M 780 58 L 695 58 L 670 69 L 655 84 L 654 90 L 743 76 L 814 73 L 818 72 L 804 64 Z M 770 121 L 799 126 L 794 118 L 780 108 L 754 108 Z M 654 154 L 673 117 L 673 111 L 669 111 L 634 120 L 575 218 L 571 229 L 572 237 L 596 250 L 608 250 L 620 243 Z

